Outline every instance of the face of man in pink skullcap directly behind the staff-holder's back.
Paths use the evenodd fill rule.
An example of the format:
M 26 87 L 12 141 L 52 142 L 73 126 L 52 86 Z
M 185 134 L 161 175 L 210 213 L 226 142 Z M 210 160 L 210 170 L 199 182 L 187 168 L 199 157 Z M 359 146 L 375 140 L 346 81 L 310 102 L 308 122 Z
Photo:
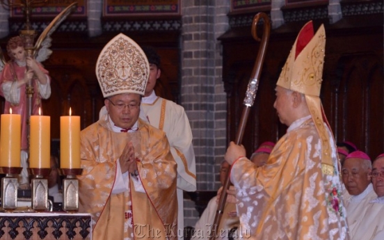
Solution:
M 371 168 L 365 164 L 366 161 L 369 160 L 351 158 L 344 161 L 342 179 L 351 195 L 359 195 L 371 183 L 371 177 L 368 176 Z

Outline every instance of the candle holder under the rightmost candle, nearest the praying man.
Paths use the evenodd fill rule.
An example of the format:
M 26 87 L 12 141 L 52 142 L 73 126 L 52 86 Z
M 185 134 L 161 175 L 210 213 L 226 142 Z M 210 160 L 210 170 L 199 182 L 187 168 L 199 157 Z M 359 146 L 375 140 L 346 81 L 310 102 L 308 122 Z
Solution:
M 79 180 L 76 175 L 81 175 L 83 168 L 58 168 L 58 173 L 67 176 L 63 179 L 63 210 L 79 211 Z

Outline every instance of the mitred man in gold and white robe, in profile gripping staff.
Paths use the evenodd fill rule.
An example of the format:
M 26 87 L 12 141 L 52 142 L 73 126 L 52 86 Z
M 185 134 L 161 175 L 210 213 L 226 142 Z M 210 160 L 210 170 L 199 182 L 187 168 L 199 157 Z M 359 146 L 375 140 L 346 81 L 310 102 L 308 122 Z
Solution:
M 250 239 L 349 239 L 336 144 L 319 98 L 326 33 L 303 26 L 276 83 L 274 107 L 288 126 L 264 166 L 233 142 L 225 160 L 240 234 Z

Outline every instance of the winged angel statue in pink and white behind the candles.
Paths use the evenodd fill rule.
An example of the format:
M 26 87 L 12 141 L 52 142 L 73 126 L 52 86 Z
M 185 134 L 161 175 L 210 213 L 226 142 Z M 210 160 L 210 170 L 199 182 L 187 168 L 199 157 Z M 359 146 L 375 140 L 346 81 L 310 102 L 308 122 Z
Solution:
M 38 115 L 42 110 L 41 99 L 48 99 L 51 95 L 51 78 L 41 62 L 51 55 L 51 38 L 58 24 L 60 24 L 75 3 L 65 8 L 42 32 L 34 46 L 32 56 L 26 52 L 24 38 L 17 35 L 8 40 L 6 51 L 10 61 L 6 62 L 0 49 L 0 95 L 6 99 L 4 113 L 20 114 L 22 116 L 22 146 L 21 165 L 22 173 L 19 175 L 19 189 L 29 189 L 29 173 L 27 168 L 29 156 L 29 115 Z M 33 86 L 33 95 L 27 97 L 27 85 Z M 31 98 L 31 101 L 30 99 Z M 31 104 L 31 106 L 29 106 Z M 30 110 L 29 110 L 30 109 Z M 31 111 L 29 113 L 29 111 Z

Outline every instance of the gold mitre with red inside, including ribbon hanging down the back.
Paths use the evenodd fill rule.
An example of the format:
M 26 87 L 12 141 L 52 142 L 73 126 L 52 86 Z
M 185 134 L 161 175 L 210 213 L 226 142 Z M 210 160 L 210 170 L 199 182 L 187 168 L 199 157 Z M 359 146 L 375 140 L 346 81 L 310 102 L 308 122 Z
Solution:
M 332 147 L 324 122 L 329 129 L 330 127 L 319 98 L 323 81 L 325 47 L 326 31 L 323 24 L 314 34 L 312 21 L 307 22 L 298 33 L 276 85 L 305 95 L 305 101 L 321 139 L 322 172 L 326 175 L 335 175 Z

